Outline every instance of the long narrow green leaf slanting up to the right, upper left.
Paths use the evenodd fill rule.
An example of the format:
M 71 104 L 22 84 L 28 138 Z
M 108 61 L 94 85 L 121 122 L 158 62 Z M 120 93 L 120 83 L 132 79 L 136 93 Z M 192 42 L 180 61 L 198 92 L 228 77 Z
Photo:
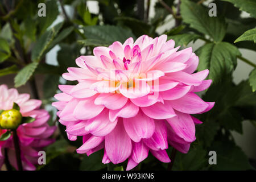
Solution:
M 31 51 L 31 60 L 33 62 L 39 62 L 44 52 L 50 46 L 53 38 L 59 32 L 63 23 L 56 24 L 56 26 L 52 27 L 50 30 L 46 31 L 40 38 L 36 41 L 35 47 Z M 49 50 L 48 50 L 49 51 Z

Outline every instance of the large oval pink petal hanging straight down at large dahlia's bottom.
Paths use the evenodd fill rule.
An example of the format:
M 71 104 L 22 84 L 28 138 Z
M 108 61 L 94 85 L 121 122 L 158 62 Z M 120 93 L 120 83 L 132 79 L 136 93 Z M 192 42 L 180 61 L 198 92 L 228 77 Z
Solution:
M 105 150 L 113 164 L 124 162 L 131 154 L 131 139 L 127 135 L 122 120 L 105 137 Z

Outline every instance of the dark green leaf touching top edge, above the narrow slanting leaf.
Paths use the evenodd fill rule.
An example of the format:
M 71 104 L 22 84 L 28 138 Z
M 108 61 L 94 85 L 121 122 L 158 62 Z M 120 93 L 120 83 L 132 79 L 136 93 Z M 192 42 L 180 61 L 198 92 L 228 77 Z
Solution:
M 46 2 L 46 16 L 38 17 L 39 28 L 41 32 L 44 32 L 59 15 L 59 8 L 56 0 Z

